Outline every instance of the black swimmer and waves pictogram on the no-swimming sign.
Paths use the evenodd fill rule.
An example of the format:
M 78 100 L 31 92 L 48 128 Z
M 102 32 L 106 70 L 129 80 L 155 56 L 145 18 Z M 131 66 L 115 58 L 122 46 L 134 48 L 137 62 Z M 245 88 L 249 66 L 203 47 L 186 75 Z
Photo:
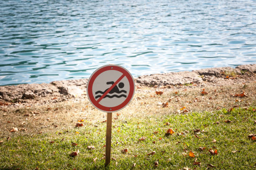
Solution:
M 113 82 L 113 81 L 111 81 L 111 82 L 107 82 L 107 85 L 113 85 L 115 82 Z M 120 82 L 119 84 L 118 84 L 118 87 L 121 89 L 121 88 L 123 88 L 124 87 L 124 84 L 123 84 L 123 82 Z M 118 94 L 120 94 L 120 93 L 122 93 L 122 92 L 124 92 L 124 93 L 127 93 L 125 90 L 119 90 L 119 88 L 117 87 L 117 85 L 115 85 L 115 87 L 113 87 L 113 89 L 111 89 L 110 90 L 110 92 L 108 92 L 108 93 L 110 93 L 110 94 L 113 94 L 114 92 L 116 92 L 116 93 L 118 93 Z M 109 88 L 107 88 L 104 92 L 102 92 L 102 91 L 97 91 L 97 92 L 95 92 L 95 95 L 97 95 L 98 93 L 100 93 L 100 94 L 104 94 L 107 90 L 108 90 Z M 101 97 L 101 95 L 97 95 L 96 97 L 95 97 L 95 99 L 97 99 L 97 98 L 99 98 L 99 97 Z M 120 98 L 120 97 L 127 97 L 126 95 L 124 95 L 124 94 L 122 94 L 122 95 L 105 95 L 105 97 L 108 97 L 108 98 L 113 98 L 113 97 L 117 97 L 117 98 Z M 105 97 L 103 97 L 103 98 L 105 98 Z

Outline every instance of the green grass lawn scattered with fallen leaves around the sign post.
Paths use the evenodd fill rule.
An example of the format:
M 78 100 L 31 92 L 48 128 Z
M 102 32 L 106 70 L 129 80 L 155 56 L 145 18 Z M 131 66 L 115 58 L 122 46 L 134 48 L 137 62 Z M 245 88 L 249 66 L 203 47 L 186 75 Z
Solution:
M 254 108 L 255 109 L 255 108 Z M 83 122 L 80 128 L 67 129 L 55 133 L 37 134 L 32 136 L 16 136 L 4 140 L 0 144 L 0 169 L 191 169 L 205 170 L 208 164 L 216 166 L 210 169 L 253 169 L 256 160 L 256 142 L 248 138 L 256 133 L 256 120 L 253 107 L 248 110 L 241 108 L 227 112 L 225 109 L 215 112 L 190 112 L 184 114 L 146 115 L 130 117 L 126 121 L 114 120 L 112 124 L 112 149 L 110 165 L 105 168 L 103 157 L 105 153 L 106 123 Z M 224 115 L 224 116 L 219 116 Z M 225 120 L 233 122 L 226 123 Z M 219 124 L 213 124 L 214 122 Z M 164 125 L 169 122 L 170 125 Z M 164 137 L 166 130 L 172 128 L 175 133 Z M 195 137 L 194 129 L 205 130 Z M 187 135 L 177 133 L 188 131 Z M 155 131 L 159 133 L 154 134 Z M 75 132 L 79 132 L 76 134 Z M 142 136 L 146 140 L 139 141 Z M 159 140 L 162 138 L 162 140 Z M 215 139 L 216 143 L 212 143 Z M 54 141 L 54 143 L 50 143 Z M 154 144 L 153 141 L 156 141 Z M 77 146 L 72 146 L 72 142 Z M 95 146 L 88 150 L 87 146 Z M 199 147 L 206 147 L 201 151 Z M 121 150 L 128 148 L 127 153 Z M 217 149 L 218 155 L 211 155 L 209 149 Z M 78 150 L 78 156 L 72 158 L 69 154 Z M 193 165 L 195 158 L 184 156 L 189 151 L 196 155 L 201 167 Z M 232 151 L 236 151 L 232 153 Z M 148 153 L 156 151 L 155 155 Z M 137 155 L 135 157 L 134 155 Z M 96 162 L 92 159 L 96 158 Z M 158 161 L 158 167 L 154 162 Z M 133 168 L 133 163 L 136 166 Z

